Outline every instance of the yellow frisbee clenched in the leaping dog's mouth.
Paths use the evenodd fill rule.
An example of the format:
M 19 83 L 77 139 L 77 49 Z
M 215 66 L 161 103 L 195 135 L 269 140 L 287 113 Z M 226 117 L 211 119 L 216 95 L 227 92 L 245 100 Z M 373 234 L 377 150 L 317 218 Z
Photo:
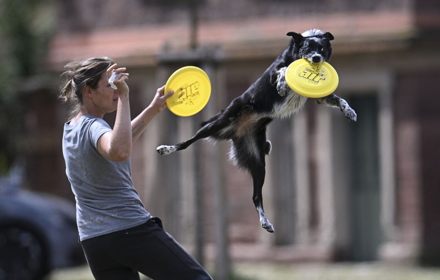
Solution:
M 287 66 L 286 83 L 298 94 L 319 98 L 336 90 L 339 77 L 327 62 L 316 64 L 302 58 Z

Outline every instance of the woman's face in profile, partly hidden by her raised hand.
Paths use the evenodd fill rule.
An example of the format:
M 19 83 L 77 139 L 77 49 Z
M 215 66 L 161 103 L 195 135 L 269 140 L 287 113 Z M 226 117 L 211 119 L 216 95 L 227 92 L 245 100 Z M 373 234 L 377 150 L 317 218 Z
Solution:
M 111 88 L 106 72 L 101 74 L 98 86 L 91 90 L 93 94 L 93 104 L 97 109 L 102 111 L 102 113 L 110 113 L 118 108 L 119 97 L 116 94 L 116 90 Z

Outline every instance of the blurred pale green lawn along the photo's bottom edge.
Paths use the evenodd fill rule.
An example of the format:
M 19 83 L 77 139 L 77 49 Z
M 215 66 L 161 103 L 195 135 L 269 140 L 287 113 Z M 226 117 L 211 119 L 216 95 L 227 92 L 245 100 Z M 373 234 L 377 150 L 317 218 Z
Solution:
M 147 278 L 141 278 L 146 280 Z M 235 263 L 231 280 L 440 280 L 440 268 L 381 264 Z M 46 280 L 93 280 L 88 266 L 56 270 Z

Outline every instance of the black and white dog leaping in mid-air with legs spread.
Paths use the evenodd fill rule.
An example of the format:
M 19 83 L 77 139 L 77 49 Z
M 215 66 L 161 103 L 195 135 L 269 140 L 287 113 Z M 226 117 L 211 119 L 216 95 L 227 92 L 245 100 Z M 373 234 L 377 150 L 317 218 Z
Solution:
M 303 34 L 289 32 L 287 36 L 291 36 L 292 40 L 283 53 L 225 110 L 203 122 L 191 139 L 173 146 L 159 146 L 156 149 L 160 154 L 169 154 L 186 149 L 203 138 L 232 140 L 230 159 L 250 172 L 254 183 L 252 199 L 261 225 L 268 232 L 273 232 L 274 228 L 264 214 L 262 197 L 264 156 L 272 149 L 272 144 L 266 140 L 266 127 L 276 118 L 287 118 L 298 112 L 307 100 L 307 97 L 292 91 L 286 84 L 286 68 L 300 58 L 318 64 L 328 61 L 331 55 L 330 41 L 334 39 L 330 32 L 322 32 L 319 29 L 311 29 Z M 356 113 L 344 99 L 330 94 L 317 98 L 316 101 L 318 104 L 340 108 L 350 121 L 356 121 Z

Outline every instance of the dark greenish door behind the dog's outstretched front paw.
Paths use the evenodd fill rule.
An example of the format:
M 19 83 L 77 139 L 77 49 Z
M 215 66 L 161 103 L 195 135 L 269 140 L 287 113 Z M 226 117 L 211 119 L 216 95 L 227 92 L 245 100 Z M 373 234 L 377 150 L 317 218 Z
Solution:
M 353 97 L 357 122 L 349 126 L 351 178 L 349 187 L 351 246 L 349 259 L 374 261 L 381 242 L 377 97 Z

